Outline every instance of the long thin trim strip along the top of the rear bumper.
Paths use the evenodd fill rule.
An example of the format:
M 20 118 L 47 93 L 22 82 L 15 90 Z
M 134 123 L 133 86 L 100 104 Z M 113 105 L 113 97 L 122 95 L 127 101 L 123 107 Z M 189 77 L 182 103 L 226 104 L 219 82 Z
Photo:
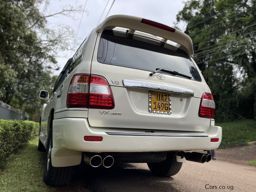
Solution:
M 149 137 L 209 137 L 208 135 L 196 134 L 156 134 L 156 133 L 122 133 L 122 132 L 105 132 L 108 135 L 122 136 L 149 136 Z

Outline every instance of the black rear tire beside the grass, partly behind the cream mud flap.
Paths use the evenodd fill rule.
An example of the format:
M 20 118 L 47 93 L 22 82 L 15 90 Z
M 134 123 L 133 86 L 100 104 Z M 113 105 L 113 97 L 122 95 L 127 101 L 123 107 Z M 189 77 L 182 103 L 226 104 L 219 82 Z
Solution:
M 52 129 L 51 129 L 52 130 Z M 52 131 L 49 132 L 49 139 L 47 141 L 47 148 L 44 160 L 44 182 L 52 187 L 68 185 L 70 182 L 74 166 L 69 167 L 53 167 L 51 158 L 52 149 Z M 49 152 L 50 151 L 50 152 Z M 48 152 L 49 152 L 49 165 L 48 165 Z

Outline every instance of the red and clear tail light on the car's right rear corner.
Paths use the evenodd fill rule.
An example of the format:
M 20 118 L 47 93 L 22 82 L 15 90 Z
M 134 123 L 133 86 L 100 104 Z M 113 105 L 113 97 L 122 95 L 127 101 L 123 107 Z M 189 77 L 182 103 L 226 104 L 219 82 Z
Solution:
M 214 118 L 215 102 L 211 93 L 203 93 L 198 112 L 199 117 Z

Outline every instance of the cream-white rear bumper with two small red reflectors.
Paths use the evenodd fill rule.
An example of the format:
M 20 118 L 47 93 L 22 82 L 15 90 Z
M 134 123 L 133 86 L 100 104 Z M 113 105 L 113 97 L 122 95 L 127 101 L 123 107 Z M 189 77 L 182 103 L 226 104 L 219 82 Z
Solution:
M 218 126 L 210 126 L 207 132 L 145 131 L 94 128 L 86 118 L 54 119 L 53 148 L 96 153 L 210 150 L 219 147 L 222 134 Z M 84 141 L 84 136 L 101 136 L 103 140 Z M 219 141 L 211 142 L 211 138 Z

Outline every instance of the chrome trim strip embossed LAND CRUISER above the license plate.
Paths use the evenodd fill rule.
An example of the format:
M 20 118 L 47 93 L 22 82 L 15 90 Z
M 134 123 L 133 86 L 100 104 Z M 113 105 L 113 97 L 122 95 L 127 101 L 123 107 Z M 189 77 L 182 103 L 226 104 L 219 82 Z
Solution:
M 134 80 L 123 80 L 124 87 L 132 87 L 132 88 L 139 88 L 139 89 L 148 89 L 148 90 L 161 90 L 164 92 L 176 93 L 180 95 L 188 95 L 194 96 L 194 91 L 190 89 L 185 89 L 181 87 L 175 87 L 172 85 L 165 85 L 165 84 L 157 84 L 157 83 L 150 83 L 144 81 L 134 81 Z

